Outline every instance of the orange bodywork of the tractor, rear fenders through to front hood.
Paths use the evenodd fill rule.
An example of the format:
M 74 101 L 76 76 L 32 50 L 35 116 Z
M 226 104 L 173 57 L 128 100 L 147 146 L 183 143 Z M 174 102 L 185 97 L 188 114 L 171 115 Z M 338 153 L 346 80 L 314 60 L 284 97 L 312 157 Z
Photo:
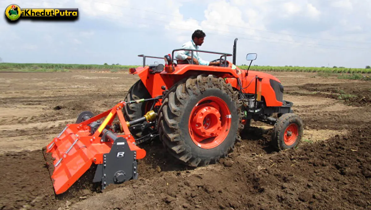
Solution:
M 150 70 L 151 66 L 138 67 L 131 69 L 130 74 L 138 74 L 142 80 L 144 86 L 152 97 L 161 96 L 165 89 L 170 89 L 175 83 L 183 78 L 189 76 L 197 76 L 201 73 L 214 74 L 218 77 L 224 78 L 226 83 L 229 83 L 235 89 L 239 90 L 240 87 L 237 85 L 237 78 L 240 79 L 243 87 L 243 93 L 255 93 L 255 76 L 262 79 L 262 97 L 265 99 L 266 106 L 279 107 L 282 106 L 283 101 L 279 99 L 279 88 L 276 90 L 272 86 L 272 82 L 276 81 L 276 84 L 280 84 L 280 80 L 276 77 L 263 73 L 260 71 L 246 71 L 241 70 L 238 67 L 233 69 L 233 64 L 229 62 L 228 67 L 217 67 L 217 66 L 200 66 L 194 64 L 181 64 L 174 67 L 173 72 L 167 72 L 162 70 L 161 72 L 153 72 Z

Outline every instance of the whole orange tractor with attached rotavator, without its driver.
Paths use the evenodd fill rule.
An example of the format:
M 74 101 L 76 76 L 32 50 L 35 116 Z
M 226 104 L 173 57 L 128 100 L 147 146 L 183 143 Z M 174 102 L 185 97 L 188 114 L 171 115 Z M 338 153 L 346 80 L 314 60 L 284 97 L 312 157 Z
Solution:
M 49 164 L 55 193 L 68 190 L 92 166 L 92 181 L 101 182 L 102 189 L 137 179 L 137 160 L 146 155 L 138 145 L 157 137 L 174 158 L 193 167 L 225 157 L 252 119 L 274 125 L 271 142 L 278 151 L 295 147 L 303 122 L 293 114 L 293 103 L 283 100 L 276 77 L 249 71 L 255 53 L 246 56 L 247 70 L 236 66 L 236 43 L 233 54 L 190 50 L 192 59 L 185 64 L 173 59 L 183 49 L 164 57 L 139 55 L 143 66 L 129 73 L 140 79 L 124 101 L 98 115 L 83 111 L 46 146 L 45 156 L 54 159 Z M 214 61 L 220 64 L 193 64 L 195 51 L 219 54 Z M 233 56 L 232 63 L 227 56 Z M 146 66 L 148 57 L 165 64 Z

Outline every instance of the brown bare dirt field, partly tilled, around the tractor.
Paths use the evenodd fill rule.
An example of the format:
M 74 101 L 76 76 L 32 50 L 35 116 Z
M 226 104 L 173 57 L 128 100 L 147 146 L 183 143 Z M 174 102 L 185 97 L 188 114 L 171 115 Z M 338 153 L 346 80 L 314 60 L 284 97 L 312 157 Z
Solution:
M 371 82 L 271 74 L 305 123 L 297 149 L 274 152 L 272 126 L 253 122 L 228 158 L 191 170 L 154 141 L 141 146 L 147 157 L 138 180 L 55 197 L 42 147 L 81 111 L 97 114 L 123 100 L 138 77 L 0 73 L 0 210 L 371 209 Z

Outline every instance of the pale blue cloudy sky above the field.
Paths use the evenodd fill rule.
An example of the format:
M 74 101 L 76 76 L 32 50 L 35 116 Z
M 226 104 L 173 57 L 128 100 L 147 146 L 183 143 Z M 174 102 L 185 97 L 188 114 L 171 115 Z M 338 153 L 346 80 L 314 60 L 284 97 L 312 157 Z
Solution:
M 237 65 L 247 53 L 259 66 L 371 65 L 371 0 L 0 0 L 10 4 L 78 8 L 79 19 L 10 24 L 3 13 L 0 62 L 141 65 L 139 54 L 163 57 L 201 29 L 201 50 L 232 54 L 237 38 Z

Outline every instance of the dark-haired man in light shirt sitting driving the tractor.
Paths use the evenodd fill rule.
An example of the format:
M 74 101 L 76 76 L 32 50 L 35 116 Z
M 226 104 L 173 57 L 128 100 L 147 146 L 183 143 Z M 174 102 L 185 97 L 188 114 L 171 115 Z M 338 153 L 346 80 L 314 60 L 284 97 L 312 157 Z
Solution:
M 184 43 L 181 48 L 198 50 L 198 46 L 201 46 L 202 43 L 204 43 L 205 37 L 206 34 L 202 30 L 196 30 L 192 34 L 192 40 Z M 177 51 L 175 58 L 178 60 L 178 64 L 188 64 L 187 60 L 191 61 L 191 51 L 187 50 Z M 193 63 L 197 65 L 213 66 L 219 65 L 220 61 L 216 62 L 205 61 L 201 59 L 201 57 L 198 55 L 198 52 L 193 52 Z

